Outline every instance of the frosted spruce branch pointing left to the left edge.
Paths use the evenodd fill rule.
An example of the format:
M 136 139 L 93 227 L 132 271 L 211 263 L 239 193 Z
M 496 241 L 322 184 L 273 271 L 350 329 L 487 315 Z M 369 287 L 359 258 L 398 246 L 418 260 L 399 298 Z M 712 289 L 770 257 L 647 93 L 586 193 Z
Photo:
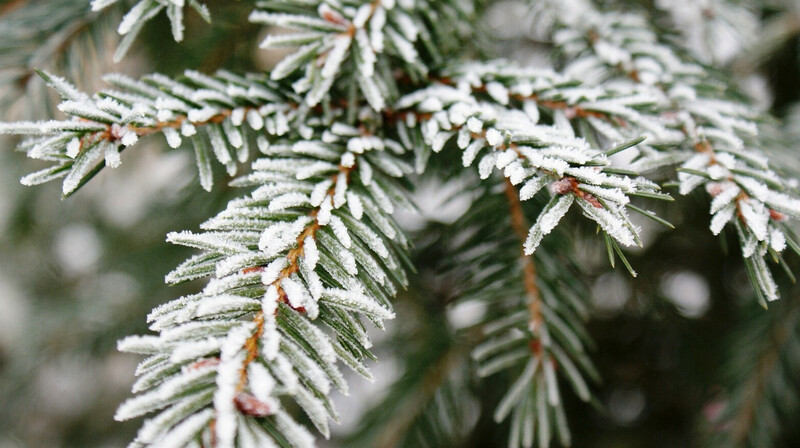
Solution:
M 176 81 L 160 74 L 141 80 L 110 74 L 105 80 L 114 88 L 91 97 L 63 78 L 42 76 L 61 95 L 59 109 L 71 119 L 2 123 L 0 134 L 33 136 L 20 149 L 51 166 L 25 176 L 22 183 L 65 177 L 64 195 L 74 193 L 104 166 L 119 166 L 120 153 L 151 134 L 161 134 L 171 148 L 191 140 L 200 183 L 210 190 L 212 159 L 235 175 L 238 164 L 250 157 L 249 132 L 282 136 L 291 122 L 307 113 L 264 75 L 220 72 L 211 77 L 187 71 Z

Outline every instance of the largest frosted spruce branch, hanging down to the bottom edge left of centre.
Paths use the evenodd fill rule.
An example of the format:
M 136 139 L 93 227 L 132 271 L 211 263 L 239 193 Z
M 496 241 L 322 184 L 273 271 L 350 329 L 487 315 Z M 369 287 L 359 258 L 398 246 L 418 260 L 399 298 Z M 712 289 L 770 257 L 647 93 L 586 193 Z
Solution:
M 134 446 L 313 446 L 287 400 L 329 435 L 328 420 L 338 421 L 330 391 L 347 394 L 338 362 L 369 377 L 362 322 L 393 318 L 390 299 L 407 281 L 407 242 L 389 215 L 405 194 L 393 178 L 410 167 L 398 144 L 353 131 L 336 124 L 273 142 L 252 173 L 234 181 L 255 187 L 251 194 L 201 233 L 168 235 L 203 253 L 167 280 L 210 281 L 151 313 L 157 336 L 120 343 L 150 355 L 138 371 L 139 395 L 117 413 L 155 412 Z

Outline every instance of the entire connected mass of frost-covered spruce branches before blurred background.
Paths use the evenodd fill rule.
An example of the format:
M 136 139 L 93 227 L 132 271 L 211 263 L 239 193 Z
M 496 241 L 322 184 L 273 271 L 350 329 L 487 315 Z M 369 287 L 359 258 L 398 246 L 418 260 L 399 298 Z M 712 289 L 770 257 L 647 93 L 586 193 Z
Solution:
M 179 41 L 187 7 L 209 18 L 195 0 L 133 3 L 119 57 L 162 11 Z M 707 193 L 713 234 L 736 232 L 761 301 L 778 298 L 767 262 L 800 250 L 784 222 L 800 217 L 800 198 L 796 180 L 766 156 L 760 112 L 640 14 L 600 12 L 588 0 L 528 3 L 525 19 L 558 49 L 557 70 L 472 60 L 480 36 L 463 24 L 482 2 L 268 0 L 248 19 L 268 27 L 262 48 L 289 51 L 267 73 L 110 74 L 111 88 L 94 95 L 40 73 L 67 118 L 0 124 L 49 163 L 24 184 L 63 177 L 69 196 L 156 135 L 173 149 L 191 141 L 205 190 L 214 160 L 246 189 L 200 231 L 167 235 L 199 253 L 166 281 L 207 283 L 153 310 L 153 334 L 119 343 L 147 356 L 136 396 L 116 415 L 147 416 L 131 446 L 313 446 L 298 410 L 329 436 L 339 418 L 331 391 L 348 391 L 340 365 L 370 378 L 367 327 L 394 318 L 391 301 L 413 271 L 412 244 L 392 215 L 414 209 L 407 192 L 439 175 L 428 169 L 437 157 L 455 154 L 449 170 L 480 178 L 443 264 L 459 276 L 455 302 L 489 309 L 464 353 L 475 376 L 510 373 L 494 418 L 510 419 L 512 447 L 569 445 L 559 381 L 588 401 L 587 379 L 597 379 L 581 261 L 571 258 L 565 223 L 590 223 L 581 238 L 605 245 L 612 265 L 618 257 L 635 276 L 623 247 L 642 246 L 643 232 L 631 212 L 671 227 L 643 204 L 674 200 L 663 182 L 674 171 L 677 193 Z M 685 13 L 676 21 L 697 20 L 688 7 L 657 3 Z M 445 392 L 426 394 L 457 401 Z M 476 418 L 467 420 L 451 426 L 465 433 Z

